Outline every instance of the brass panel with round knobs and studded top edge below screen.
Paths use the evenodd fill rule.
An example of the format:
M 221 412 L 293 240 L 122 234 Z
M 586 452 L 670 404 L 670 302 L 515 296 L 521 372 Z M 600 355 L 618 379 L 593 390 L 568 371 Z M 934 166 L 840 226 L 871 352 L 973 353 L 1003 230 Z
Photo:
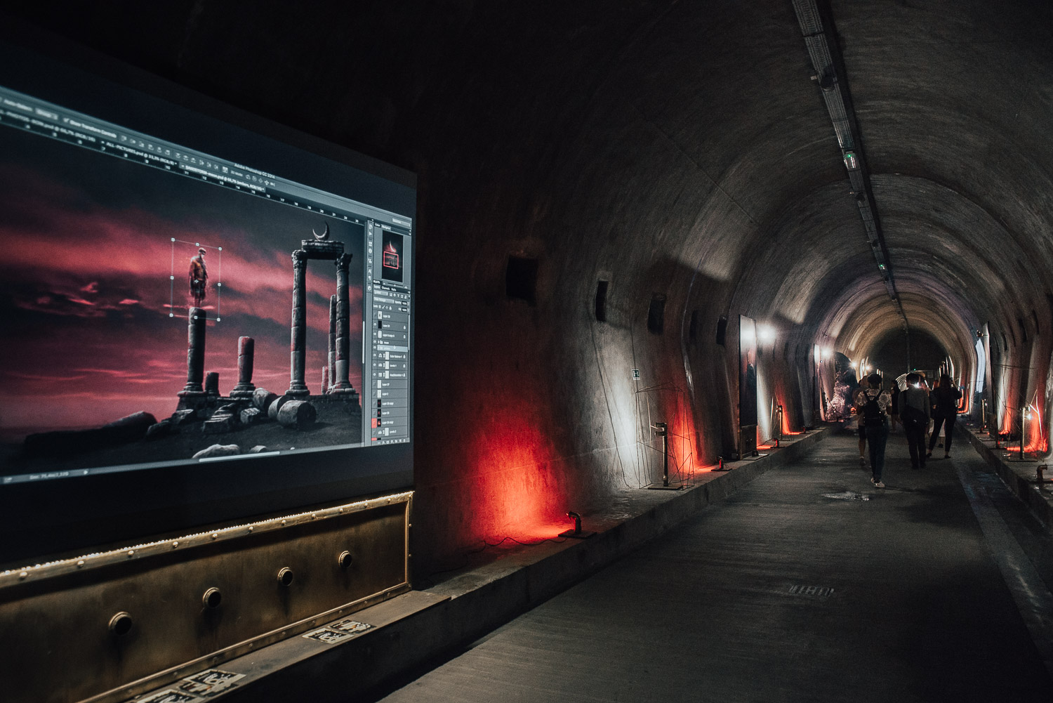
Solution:
M 319 614 L 402 592 L 410 505 L 7 586 L 4 700 L 73 703 L 117 688 L 103 698 L 123 700 L 144 687 L 133 682 L 197 660 L 205 668 L 305 630 Z

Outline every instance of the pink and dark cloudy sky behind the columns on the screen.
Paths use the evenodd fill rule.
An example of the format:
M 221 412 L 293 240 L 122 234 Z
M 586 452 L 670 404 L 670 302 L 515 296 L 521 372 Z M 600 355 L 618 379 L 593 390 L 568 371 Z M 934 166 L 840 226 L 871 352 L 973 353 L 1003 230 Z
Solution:
M 362 242 L 356 226 L 329 223 L 354 254 L 351 382 L 361 388 Z M 207 324 L 205 371 L 219 372 L 230 393 L 238 337 L 252 336 L 253 382 L 283 392 L 291 254 L 322 226 L 317 214 L 0 128 L 0 433 L 93 427 L 139 410 L 170 415 L 186 383 L 186 272 L 198 242 L 208 251 L 205 306 L 220 317 Z M 311 261 L 312 392 L 334 293 L 334 265 Z

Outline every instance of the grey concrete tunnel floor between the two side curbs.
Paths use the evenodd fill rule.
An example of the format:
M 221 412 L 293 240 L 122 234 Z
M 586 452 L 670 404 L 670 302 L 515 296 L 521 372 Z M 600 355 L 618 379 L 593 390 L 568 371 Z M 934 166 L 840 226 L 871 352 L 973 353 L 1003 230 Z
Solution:
M 991 521 L 1042 598 L 1048 535 L 963 444 L 912 471 L 894 434 L 888 487 L 869 475 L 832 436 L 380 700 L 1053 700 Z

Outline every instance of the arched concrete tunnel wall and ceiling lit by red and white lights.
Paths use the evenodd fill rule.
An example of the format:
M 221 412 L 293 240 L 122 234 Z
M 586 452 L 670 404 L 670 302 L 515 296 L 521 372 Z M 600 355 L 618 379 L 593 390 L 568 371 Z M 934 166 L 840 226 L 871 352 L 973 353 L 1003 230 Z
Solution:
M 738 315 L 776 330 L 758 383 L 788 430 L 812 418 L 813 345 L 859 359 L 900 327 L 789 0 L 17 12 L 417 173 L 421 573 L 481 539 L 551 536 L 568 509 L 657 479 L 643 411 L 683 437 L 678 462 L 728 456 Z M 1005 431 L 1037 398 L 1029 444 L 1046 452 L 1053 9 L 835 1 L 830 14 L 910 325 L 968 383 L 987 324 L 985 396 Z M 505 294 L 510 256 L 536 259 L 533 302 Z

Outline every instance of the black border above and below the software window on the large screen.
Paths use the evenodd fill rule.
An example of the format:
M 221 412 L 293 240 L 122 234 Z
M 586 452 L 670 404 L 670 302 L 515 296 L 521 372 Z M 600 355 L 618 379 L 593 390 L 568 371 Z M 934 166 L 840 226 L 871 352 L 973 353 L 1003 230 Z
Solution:
M 419 231 L 413 173 L 225 104 L 3 14 L 0 19 L 4 20 L 0 22 L 0 84 L 159 138 L 258 164 L 384 210 L 411 214 L 415 221 L 413 236 L 408 237 L 409 284 L 415 290 Z M 122 104 L 121 95 L 134 95 L 135 106 Z M 167 112 L 158 125 L 161 109 Z M 262 149 L 270 151 L 262 155 Z M 311 165 L 318 159 L 329 162 L 325 175 L 317 175 L 317 167 Z M 384 188 L 378 187 L 378 192 L 365 197 L 353 196 L 339 181 L 340 174 L 346 178 L 355 172 L 382 178 L 393 188 L 382 192 Z M 363 296 L 363 318 L 367 312 Z M 0 566 L 412 488 L 415 327 L 413 310 L 409 443 L 245 458 L 223 463 L 221 471 L 216 464 L 192 464 L 0 486 Z

